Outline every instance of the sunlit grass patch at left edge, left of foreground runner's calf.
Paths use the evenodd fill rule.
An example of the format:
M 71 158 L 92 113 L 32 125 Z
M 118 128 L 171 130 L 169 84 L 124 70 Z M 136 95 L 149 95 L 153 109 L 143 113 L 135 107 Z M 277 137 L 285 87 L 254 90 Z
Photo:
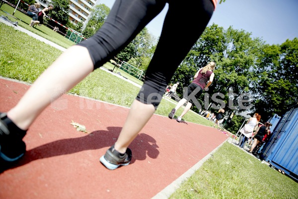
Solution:
M 0 23 L 1 76 L 33 83 L 61 51 Z

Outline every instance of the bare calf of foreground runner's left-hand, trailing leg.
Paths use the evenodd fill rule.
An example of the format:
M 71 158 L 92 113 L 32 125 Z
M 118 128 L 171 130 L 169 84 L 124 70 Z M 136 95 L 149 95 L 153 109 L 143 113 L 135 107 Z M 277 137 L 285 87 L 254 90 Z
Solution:
M 51 103 L 72 89 L 93 71 L 93 62 L 85 47 L 72 46 L 64 52 L 30 87 L 7 116 L 27 130 Z

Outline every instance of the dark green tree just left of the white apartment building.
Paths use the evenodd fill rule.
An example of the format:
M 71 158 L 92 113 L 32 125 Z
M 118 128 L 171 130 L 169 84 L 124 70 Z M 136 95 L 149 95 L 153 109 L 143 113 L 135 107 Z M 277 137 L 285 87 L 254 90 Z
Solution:
M 63 25 L 68 26 L 69 21 L 69 8 L 70 1 L 69 0 L 52 0 L 52 4 L 54 5 L 53 10 L 49 14 L 51 18 L 60 22 Z M 57 24 L 56 24 L 57 25 Z

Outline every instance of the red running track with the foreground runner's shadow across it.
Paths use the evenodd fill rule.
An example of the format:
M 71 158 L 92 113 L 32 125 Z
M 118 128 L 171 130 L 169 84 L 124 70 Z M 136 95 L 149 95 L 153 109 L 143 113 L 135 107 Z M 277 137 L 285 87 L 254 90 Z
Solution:
M 29 87 L 0 79 L 0 111 Z M 25 157 L 0 174 L 0 199 L 166 199 L 228 138 L 212 127 L 153 115 L 130 145 L 131 164 L 110 171 L 99 158 L 116 141 L 128 111 L 63 95 L 28 130 Z M 72 121 L 88 133 L 76 131 Z

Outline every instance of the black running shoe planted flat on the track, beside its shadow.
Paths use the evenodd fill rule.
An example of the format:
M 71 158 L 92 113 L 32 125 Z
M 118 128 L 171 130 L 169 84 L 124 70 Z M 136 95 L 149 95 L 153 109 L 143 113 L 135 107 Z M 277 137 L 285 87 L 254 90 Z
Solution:
M 131 160 L 132 151 L 129 148 L 124 155 L 121 155 L 115 150 L 114 145 L 100 158 L 100 162 L 109 170 L 117 169 L 119 166 L 127 166 Z

